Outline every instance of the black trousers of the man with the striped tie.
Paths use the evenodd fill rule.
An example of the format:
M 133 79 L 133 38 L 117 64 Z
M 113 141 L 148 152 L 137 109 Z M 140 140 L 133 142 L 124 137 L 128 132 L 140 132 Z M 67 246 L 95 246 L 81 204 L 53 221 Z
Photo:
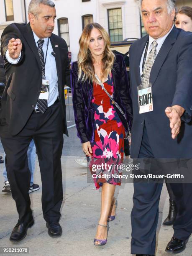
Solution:
M 28 194 L 31 174 L 27 150 L 33 139 L 38 154 L 42 181 L 42 208 L 46 222 L 59 222 L 63 200 L 61 154 L 63 148 L 63 114 L 56 101 L 44 114 L 33 111 L 23 130 L 16 136 L 1 137 L 6 158 L 8 181 L 19 214 L 18 223 L 32 218 Z

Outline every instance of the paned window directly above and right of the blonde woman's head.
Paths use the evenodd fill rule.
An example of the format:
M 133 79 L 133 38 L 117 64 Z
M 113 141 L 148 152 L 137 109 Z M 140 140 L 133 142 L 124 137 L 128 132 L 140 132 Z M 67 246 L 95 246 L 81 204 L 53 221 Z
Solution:
M 111 42 L 123 41 L 121 8 L 108 10 L 108 24 Z

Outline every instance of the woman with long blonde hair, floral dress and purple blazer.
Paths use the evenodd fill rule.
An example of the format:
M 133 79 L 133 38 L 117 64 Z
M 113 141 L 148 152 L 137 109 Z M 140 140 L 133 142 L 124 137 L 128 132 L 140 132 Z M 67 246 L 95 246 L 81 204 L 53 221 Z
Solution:
M 77 136 L 91 158 L 96 189 L 102 186 L 101 215 L 94 244 L 107 242 L 108 221 L 115 219 L 115 168 L 123 160 L 125 131 L 132 122 L 132 102 L 125 62 L 110 50 L 108 33 L 98 23 L 88 24 L 79 39 L 78 60 L 72 63 L 71 83 Z M 93 168 L 93 166 L 102 168 Z M 109 168 L 107 166 L 110 166 Z M 113 175 L 112 175 L 113 174 Z M 115 177 L 113 177 L 115 176 Z M 116 178 L 117 176 L 117 178 Z

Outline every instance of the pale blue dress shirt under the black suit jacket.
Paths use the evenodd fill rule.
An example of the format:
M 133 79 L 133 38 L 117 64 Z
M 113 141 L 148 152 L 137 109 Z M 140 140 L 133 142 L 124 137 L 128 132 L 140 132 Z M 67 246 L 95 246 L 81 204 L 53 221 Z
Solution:
M 34 39 L 36 42 L 36 46 L 38 47 L 37 42 L 40 38 L 38 38 L 38 36 L 36 36 L 36 34 L 34 32 L 33 32 L 33 36 L 34 36 Z M 46 64 L 45 64 L 45 76 L 46 76 L 46 79 L 50 81 L 49 100 L 47 101 L 48 107 L 50 107 L 56 101 L 56 98 L 59 95 L 59 91 L 58 91 L 58 77 L 57 77 L 56 61 L 55 61 L 55 57 L 51 54 L 51 52 L 53 52 L 53 48 L 52 48 L 50 39 L 49 39 L 49 46 L 48 46 L 48 50 L 47 50 L 48 39 L 49 38 L 43 39 L 44 40 L 43 52 L 44 52 L 44 59 L 45 59 L 46 51 L 47 51 L 47 58 L 46 58 Z M 17 64 L 18 61 L 20 60 L 21 53 L 20 53 L 18 59 L 12 59 L 9 56 L 9 51 L 7 50 L 5 56 L 6 56 L 6 59 L 9 61 L 9 63 Z M 37 109 L 37 105 L 36 105 L 36 109 Z

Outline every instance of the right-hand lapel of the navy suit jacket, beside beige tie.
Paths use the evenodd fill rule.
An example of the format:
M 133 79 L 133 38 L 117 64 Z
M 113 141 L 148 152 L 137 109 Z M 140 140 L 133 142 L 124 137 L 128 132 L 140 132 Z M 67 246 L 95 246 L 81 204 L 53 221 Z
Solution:
M 153 67 L 151 69 L 151 74 L 150 74 L 150 82 L 151 82 L 152 86 L 154 85 L 154 83 L 157 79 L 157 76 L 159 74 L 161 66 L 163 65 L 163 63 L 166 59 L 167 54 L 172 49 L 173 44 L 175 43 L 175 41 L 177 39 L 177 34 L 178 34 L 178 30 L 174 26 L 172 31 L 166 37 L 163 45 L 161 46 L 159 53 L 156 56 L 156 59 L 154 61 Z

